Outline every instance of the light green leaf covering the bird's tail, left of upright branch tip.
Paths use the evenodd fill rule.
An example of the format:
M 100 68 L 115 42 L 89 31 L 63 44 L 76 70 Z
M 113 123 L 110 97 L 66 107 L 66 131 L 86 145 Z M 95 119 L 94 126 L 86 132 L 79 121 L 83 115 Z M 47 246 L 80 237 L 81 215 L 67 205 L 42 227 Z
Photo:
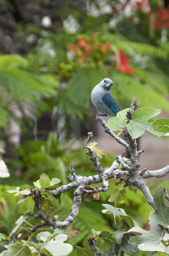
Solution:
M 107 122 L 107 127 L 111 131 L 123 130 L 123 128 L 126 126 L 125 120 L 126 120 L 126 114 L 127 114 L 128 109 L 129 108 L 125 108 L 125 109 L 119 111 L 116 116 L 109 118 L 109 120 Z M 119 136 L 119 134 L 117 136 Z

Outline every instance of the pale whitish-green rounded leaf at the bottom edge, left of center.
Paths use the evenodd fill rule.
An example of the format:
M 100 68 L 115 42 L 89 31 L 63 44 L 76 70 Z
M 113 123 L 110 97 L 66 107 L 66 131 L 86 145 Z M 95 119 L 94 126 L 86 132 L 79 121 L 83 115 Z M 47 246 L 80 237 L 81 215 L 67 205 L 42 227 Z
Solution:
M 51 240 L 46 244 L 43 244 L 40 252 L 46 256 L 66 256 L 72 252 L 73 246 L 71 244 L 63 243 L 60 240 Z M 46 254 L 46 251 L 50 254 Z

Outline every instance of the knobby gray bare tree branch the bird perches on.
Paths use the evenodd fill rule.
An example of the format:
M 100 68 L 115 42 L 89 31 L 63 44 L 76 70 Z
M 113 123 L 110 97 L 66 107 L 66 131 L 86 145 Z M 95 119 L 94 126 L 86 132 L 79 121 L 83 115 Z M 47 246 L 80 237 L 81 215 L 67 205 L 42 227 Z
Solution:
M 136 100 L 134 99 L 132 101 L 131 104 L 131 108 L 128 110 L 127 112 L 127 122 L 129 122 L 131 115 L 134 113 L 135 109 L 137 107 L 136 104 Z M 107 124 L 104 121 L 102 116 L 98 116 L 97 120 L 100 122 L 100 124 L 106 128 Z M 111 135 L 114 139 L 116 134 L 112 131 L 106 131 L 109 135 Z M 156 170 L 156 171 L 147 171 L 146 168 L 144 168 L 142 171 L 140 171 L 140 164 L 138 163 L 138 156 L 139 154 L 141 154 L 142 152 L 144 152 L 144 150 L 140 150 L 137 151 L 137 142 L 134 138 L 132 138 L 129 133 L 128 135 L 128 144 L 120 139 L 119 137 L 117 137 L 115 140 L 121 144 L 122 146 L 124 146 L 125 148 L 127 148 L 127 150 L 129 151 L 129 153 L 131 154 L 131 158 L 125 158 L 124 157 L 124 152 L 122 153 L 122 155 L 120 156 L 116 156 L 115 160 L 113 162 L 113 164 L 111 165 L 111 167 L 109 169 L 107 169 L 104 172 L 104 169 L 102 168 L 101 164 L 98 161 L 98 158 L 96 157 L 95 153 L 92 152 L 89 148 L 86 152 L 86 154 L 89 156 L 89 160 L 92 162 L 92 164 L 95 167 L 95 170 L 97 171 L 97 175 L 94 176 L 80 176 L 80 175 L 76 175 L 74 169 L 73 169 L 73 165 L 70 165 L 70 172 L 71 174 L 69 174 L 68 178 L 69 180 L 71 180 L 71 182 L 67 185 L 62 185 L 54 190 L 50 190 L 51 194 L 55 197 L 58 197 L 61 195 L 61 193 L 64 193 L 65 191 L 69 191 L 73 188 L 76 188 L 75 192 L 74 192 L 74 198 L 73 198 L 73 206 L 72 206 L 72 212 L 68 215 L 68 217 L 64 220 L 64 221 L 56 221 L 55 218 L 50 219 L 49 215 L 45 215 L 42 211 L 42 206 L 41 206 L 41 195 L 40 192 L 37 190 L 32 190 L 33 193 L 33 200 L 35 201 L 35 206 L 37 207 L 37 214 L 34 214 L 32 212 L 29 212 L 30 215 L 34 216 L 35 219 L 36 218 L 40 218 L 41 220 L 43 220 L 43 223 L 41 223 L 41 225 L 45 226 L 50 226 L 53 227 L 53 229 L 55 228 L 65 228 L 67 227 L 70 223 L 72 223 L 74 221 L 74 219 L 76 218 L 78 211 L 79 211 L 79 206 L 81 204 L 81 194 L 82 193 L 86 193 L 86 194 L 94 194 L 94 193 L 98 193 L 98 192 L 106 192 L 109 189 L 109 183 L 108 180 L 113 178 L 114 180 L 119 179 L 120 177 L 123 177 L 124 171 L 126 173 L 126 175 L 130 178 L 130 177 L 135 177 L 134 180 L 132 180 L 133 184 L 137 187 L 140 188 L 142 193 L 144 194 L 144 196 L 147 198 L 147 202 L 153 207 L 154 206 L 154 201 L 153 201 L 153 197 L 150 194 L 150 190 L 149 188 L 145 185 L 143 178 L 149 178 L 149 177 L 162 177 L 164 176 L 166 173 L 169 172 L 169 165 L 165 166 L 164 168 L 160 169 L 160 170 Z M 83 148 L 88 145 L 88 143 L 91 141 L 91 139 L 93 138 L 93 133 L 92 132 L 88 132 L 88 138 L 86 140 L 86 144 L 83 145 Z M 121 163 L 122 165 L 122 170 L 119 170 L 119 164 Z M 119 181 L 115 181 L 115 185 L 118 185 L 119 183 L 121 183 L 123 179 L 120 178 Z M 102 187 L 99 188 L 98 186 L 96 186 L 96 188 L 92 188 L 92 189 L 87 189 L 87 185 L 90 184 L 96 184 L 102 182 Z M 126 186 L 127 186 L 127 182 L 126 182 Z M 166 194 L 165 194 L 166 195 Z M 36 225 L 34 228 L 32 228 L 30 230 L 30 234 L 32 232 L 34 232 L 37 228 L 39 228 L 39 224 Z M 93 242 L 91 242 L 91 245 L 94 246 Z M 96 248 L 95 248 L 96 249 Z M 102 252 L 101 252 L 102 253 Z M 122 256 L 124 254 L 124 252 L 121 250 L 119 252 L 119 256 Z M 99 254 L 100 255 L 100 254 Z M 103 254 L 102 254 L 103 255 Z

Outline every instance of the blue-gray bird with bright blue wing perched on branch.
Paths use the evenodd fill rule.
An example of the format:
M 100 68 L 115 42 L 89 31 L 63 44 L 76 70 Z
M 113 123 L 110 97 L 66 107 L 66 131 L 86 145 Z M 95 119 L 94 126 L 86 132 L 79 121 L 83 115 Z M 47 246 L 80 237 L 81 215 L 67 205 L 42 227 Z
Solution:
M 115 98 L 110 92 L 112 85 L 113 81 L 111 79 L 104 78 L 99 84 L 97 84 L 93 88 L 91 92 L 91 100 L 93 105 L 98 111 L 103 113 L 103 115 L 98 114 L 97 116 L 116 116 L 117 113 L 120 111 Z M 126 133 L 125 128 L 122 132 Z M 125 136 L 121 136 L 121 138 L 123 140 L 128 140 L 128 138 Z

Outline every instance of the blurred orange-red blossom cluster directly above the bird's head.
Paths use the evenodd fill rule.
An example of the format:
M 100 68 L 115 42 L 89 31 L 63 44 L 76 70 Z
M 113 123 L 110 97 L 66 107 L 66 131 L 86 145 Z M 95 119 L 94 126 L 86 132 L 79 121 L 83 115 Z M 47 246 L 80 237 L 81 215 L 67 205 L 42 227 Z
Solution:
M 87 56 L 91 52 L 95 52 L 96 50 L 100 49 L 101 52 L 106 53 L 109 52 L 111 48 L 111 42 L 108 42 L 107 44 L 100 45 L 99 43 L 95 43 L 95 35 L 91 35 L 90 41 L 88 42 L 83 37 L 80 37 L 77 40 L 77 45 L 72 44 L 68 46 L 68 49 L 70 51 L 73 51 L 76 53 L 76 55 L 81 55 L 80 57 L 77 57 L 76 61 L 79 63 L 82 63 L 86 60 Z

